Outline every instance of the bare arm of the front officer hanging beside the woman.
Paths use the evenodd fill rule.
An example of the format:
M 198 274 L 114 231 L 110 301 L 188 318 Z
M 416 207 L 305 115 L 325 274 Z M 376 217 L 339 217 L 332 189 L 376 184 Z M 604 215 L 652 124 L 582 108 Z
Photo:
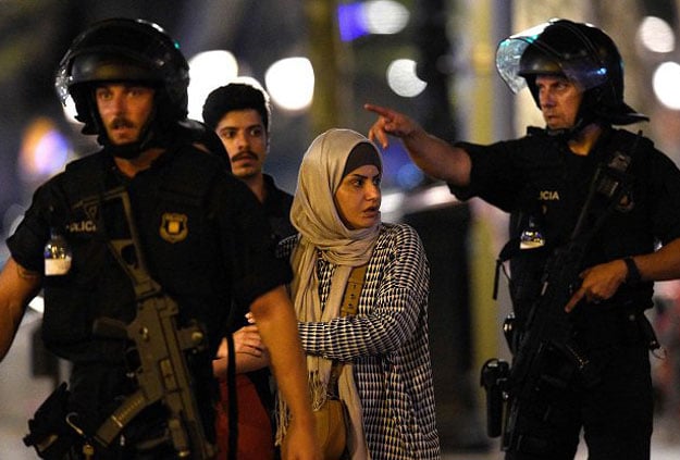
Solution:
M 284 286 L 255 299 L 250 311 L 271 356 L 276 385 L 290 409 L 290 437 L 284 459 L 320 460 L 311 412 L 307 364 L 297 330 L 297 319 Z

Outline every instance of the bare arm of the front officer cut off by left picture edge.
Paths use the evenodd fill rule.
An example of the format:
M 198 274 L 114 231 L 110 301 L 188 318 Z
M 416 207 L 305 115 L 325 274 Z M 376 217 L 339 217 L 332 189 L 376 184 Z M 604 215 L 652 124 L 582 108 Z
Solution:
M 0 272 L 0 361 L 10 350 L 26 304 L 40 289 L 41 281 L 38 273 L 24 269 L 12 258 Z

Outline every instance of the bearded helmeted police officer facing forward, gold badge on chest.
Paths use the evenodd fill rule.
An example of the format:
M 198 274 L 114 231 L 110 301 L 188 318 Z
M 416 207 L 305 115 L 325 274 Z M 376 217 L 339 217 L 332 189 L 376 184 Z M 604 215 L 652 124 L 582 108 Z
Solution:
M 134 373 L 139 357 L 129 352 L 128 341 L 92 326 L 101 318 L 135 319 L 136 286 L 125 262 L 129 269 L 144 260 L 178 303 L 180 325 L 196 321 L 207 333 L 206 357 L 223 336 L 228 306 L 249 307 L 296 411 L 297 442 L 284 457 L 319 458 L 295 313 L 283 287 L 289 269 L 273 256 L 252 194 L 225 174 L 219 154 L 207 153 L 219 140 L 186 120 L 188 65 L 177 42 L 141 20 L 96 23 L 73 41 L 55 85 L 62 101 L 73 98 L 83 133 L 97 135 L 102 149 L 39 187 L 8 240 L 11 257 L 0 273 L 0 357 L 26 303 L 42 287 L 46 346 L 73 364 L 66 397 L 59 393 L 49 410 L 36 414 L 28 444 L 50 458 L 90 458 L 92 449 L 98 459 L 177 457 L 177 439 L 168 434 L 176 435 L 176 426 L 168 426 L 158 403 L 122 426 L 110 444 L 92 442 L 102 422 L 139 387 Z M 109 206 L 112 190 L 128 197 L 127 212 Z M 84 203 L 96 203 L 97 213 Z M 110 250 L 110 238 L 125 234 L 126 223 L 136 227 L 133 240 L 141 259 Z M 69 254 L 58 264 L 44 260 L 50 235 L 61 237 L 61 252 Z M 198 353 L 189 364 L 202 426 L 214 443 L 210 359 Z

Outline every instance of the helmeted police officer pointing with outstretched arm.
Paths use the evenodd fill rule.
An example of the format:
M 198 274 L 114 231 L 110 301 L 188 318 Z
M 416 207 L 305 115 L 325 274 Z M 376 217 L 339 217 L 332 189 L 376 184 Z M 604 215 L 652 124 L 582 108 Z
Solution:
M 583 428 L 590 459 L 648 459 L 654 337 L 643 311 L 653 282 L 680 277 L 680 172 L 648 139 L 613 127 L 645 117 L 623 102 L 621 58 L 601 29 L 552 20 L 502 41 L 496 66 L 514 91 L 529 87 L 544 128 L 490 146 L 450 145 L 401 113 L 367 104 L 379 115 L 370 137 L 383 146 L 387 135 L 399 137 L 416 164 L 459 198 L 478 196 L 511 213 L 523 259 L 511 264 L 514 281 L 522 279 L 512 284 L 531 291 L 520 293 L 524 304 L 512 293 L 520 331 L 546 261 L 574 231 L 594 172 L 628 159 L 620 172 L 632 178 L 619 185 L 630 190 L 588 241 L 580 287 L 565 306 L 570 340 L 593 374 L 585 378 L 556 353 L 546 370 L 554 385 L 516 421 L 505 449 L 508 459 L 572 459 Z M 588 209 L 585 227 L 605 212 Z M 530 237 L 519 246 L 521 233 Z

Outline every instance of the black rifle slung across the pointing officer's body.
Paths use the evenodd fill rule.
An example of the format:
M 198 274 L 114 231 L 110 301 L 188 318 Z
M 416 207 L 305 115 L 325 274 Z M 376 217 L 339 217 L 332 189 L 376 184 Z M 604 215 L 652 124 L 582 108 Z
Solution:
M 634 152 L 638 140 L 632 148 Z M 542 279 L 540 297 L 533 302 L 526 324 L 515 337 L 512 365 L 498 359 L 482 368 L 481 383 L 487 396 L 487 432 L 492 437 L 502 433 L 503 449 L 519 450 L 526 434 L 517 430 L 520 413 L 535 410 L 536 398 L 547 387 L 560 388 L 565 383 L 546 372 L 552 360 L 561 356 L 576 370 L 584 385 L 594 385 L 598 376 L 572 340 L 571 323 L 565 306 L 578 288 L 588 246 L 615 209 L 630 207 L 632 177 L 627 173 L 631 157 L 615 151 L 607 163 L 602 162 L 591 181 L 589 194 L 569 241 L 557 248 L 548 261 Z M 506 325 L 507 326 L 507 325 Z M 500 402 L 502 395 L 503 402 Z

